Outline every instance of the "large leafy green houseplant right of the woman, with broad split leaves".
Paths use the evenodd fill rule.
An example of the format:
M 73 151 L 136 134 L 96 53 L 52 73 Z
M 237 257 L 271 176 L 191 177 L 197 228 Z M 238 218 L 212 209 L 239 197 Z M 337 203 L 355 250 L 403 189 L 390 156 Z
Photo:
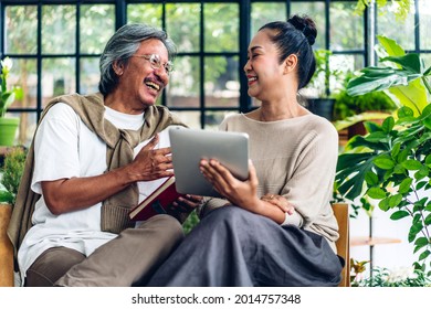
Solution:
M 368 136 L 349 140 L 338 158 L 337 188 L 351 201 L 364 194 L 377 200 L 382 211 L 392 212 L 391 220 L 410 217 L 408 241 L 419 254 L 414 267 L 425 270 L 431 264 L 431 66 L 395 41 L 378 39 L 389 54 L 380 61 L 389 65 L 364 68 L 348 93 L 386 90 L 401 107 L 381 126 L 366 122 Z

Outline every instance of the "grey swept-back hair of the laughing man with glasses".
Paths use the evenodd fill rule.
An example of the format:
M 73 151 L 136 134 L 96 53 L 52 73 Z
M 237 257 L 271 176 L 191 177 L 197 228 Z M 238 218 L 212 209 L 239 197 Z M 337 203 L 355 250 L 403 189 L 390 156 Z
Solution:
M 174 60 L 177 50 L 165 31 L 141 23 L 125 24 L 109 39 L 101 56 L 98 90 L 103 95 L 109 94 L 117 85 L 118 76 L 113 68 L 114 62 L 118 60 L 127 63 L 139 49 L 139 44 L 149 39 L 161 41 L 168 50 L 169 60 Z

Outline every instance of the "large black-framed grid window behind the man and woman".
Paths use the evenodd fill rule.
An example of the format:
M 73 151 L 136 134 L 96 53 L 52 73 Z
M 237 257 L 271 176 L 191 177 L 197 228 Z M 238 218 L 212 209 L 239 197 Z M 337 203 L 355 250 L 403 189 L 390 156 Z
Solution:
M 245 92 L 245 97 L 241 97 L 240 93 L 241 86 L 246 87 L 246 81 L 240 78 L 243 74 L 241 62 L 244 61 L 249 44 L 241 40 L 245 35 L 243 31 L 251 31 L 245 35 L 249 38 L 266 22 L 285 21 L 287 13 L 309 15 L 316 21 L 318 31 L 313 49 L 328 49 L 333 52 L 329 61 L 332 70 L 358 71 L 364 67 L 368 51 L 365 50 L 364 41 L 365 18 L 354 13 L 356 2 L 2 1 L 4 18 L 0 22 L 4 32 L 0 54 L 13 58 L 18 70 L 12 73 L 11 82 L 24 88 L 24 98 L 22 102 L 17 100 L 9 113 L 33 119 L 22 121 L 22 126 L 27 127 L 20 130 L 20 140 L 25 140 L 25 137 L 30 140 L 32 126 L 44 103 L 52 96 L 76 90 L 82 94 L 96 92 L 99 54 L 115 29 L 120 26 L 119 21 L 125 20 L 165 29 L 177 45 L 175 72 L 158 104 L 166 104 L 190 126 L 217 128 L 227 113 L 246 111 L 250 103 L 252 107 L 260 105 L 255 99 L 250 99 Z M 396 2 L 388 1 L 388 4 L 397 6 Z M 413 8 L 403 23 L 395 18 L 396 7 L 379 9 L 376 32 L 397 40 L 408 51 L 421 53 L 430 66 L 431 1 L 416 2 L 418 12 Z M 123 12 L 123 9 L 117 10 L 117 6 L 126 8 L 124 17 L 117 15 Z M 251 15 L 241 15 L 240 24 L 240 12 L 246 11 L 248 6 Z M 329 13 L 328 22 L 326 12 Z M 414 20 L 419 21 L 418 36 Z M 393 26 L 395 23 L 397 26 Z M 326 34 L 329 42 L 326 42 Z M 336 92 L 340 84 L 340 78 L 333 78 L 329 83 L 330 92 Z

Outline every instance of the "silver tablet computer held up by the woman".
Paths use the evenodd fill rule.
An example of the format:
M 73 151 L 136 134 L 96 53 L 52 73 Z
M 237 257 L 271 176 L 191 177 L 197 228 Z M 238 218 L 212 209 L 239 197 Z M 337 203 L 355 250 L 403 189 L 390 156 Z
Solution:
M 220 196 L 200 172 L 202 158 L 217 159 L 238 179 L 249 178 L 249 136 L 244 132 L 172 127 L 169 139 L 179 193 Z

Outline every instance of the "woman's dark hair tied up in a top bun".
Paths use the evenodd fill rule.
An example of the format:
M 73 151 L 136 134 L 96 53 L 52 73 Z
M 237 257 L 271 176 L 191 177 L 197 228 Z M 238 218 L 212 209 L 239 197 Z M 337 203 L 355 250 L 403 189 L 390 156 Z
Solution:
M 293 15 L 285 21 L 274 21 L 261 26 L 259 31 L 270 29 L 271 41 L 277 46 L 280 63 L 288 55 L 295 54 L 298 58 L 298 89 L 305 87 L 316 71 L 316 58 L 312 45 L 316 41 L 317 30 L 315 22 L 307 15 Z

